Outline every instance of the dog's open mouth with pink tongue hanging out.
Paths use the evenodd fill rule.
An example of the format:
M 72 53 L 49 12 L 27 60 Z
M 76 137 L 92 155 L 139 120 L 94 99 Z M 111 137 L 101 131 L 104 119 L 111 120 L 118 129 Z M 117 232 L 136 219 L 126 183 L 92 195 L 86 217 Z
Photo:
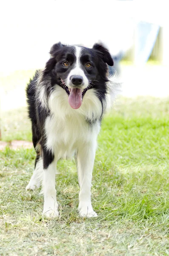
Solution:
M 85 88 L 84 90 L 82 90 L 80 88 L 68 88 L 63 81 L 60 84 L 60 86 L 68 94 L 69 105 L 71 106 L 71 108 L 74 108 L 74 109 L 80 108 L 80 106 L 82 105 L 82 100 L 83 100 L 83 97 L 84 97 L 86 91 L 91 89 L 90 85 L 87 88 Z

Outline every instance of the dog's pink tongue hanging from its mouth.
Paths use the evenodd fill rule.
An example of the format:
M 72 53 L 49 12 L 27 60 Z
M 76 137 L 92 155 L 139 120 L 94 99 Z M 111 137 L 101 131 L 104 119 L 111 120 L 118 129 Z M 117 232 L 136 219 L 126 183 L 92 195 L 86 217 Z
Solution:
M 71 88 L 68 102 L 71 108 L 80 108 L 80 106 L 82 105 L 82 89 Z

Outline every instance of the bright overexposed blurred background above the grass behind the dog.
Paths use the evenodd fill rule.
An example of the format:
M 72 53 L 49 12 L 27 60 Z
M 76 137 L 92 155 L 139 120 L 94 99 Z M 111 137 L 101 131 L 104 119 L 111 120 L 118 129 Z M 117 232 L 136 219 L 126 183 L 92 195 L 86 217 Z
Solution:
M 26 83 L 58 41 L 86 47 L 102 41 L 124 97 L 169 96 L 167 10 L 167 1 L 1 1 L 1 116 L 26 106 Z

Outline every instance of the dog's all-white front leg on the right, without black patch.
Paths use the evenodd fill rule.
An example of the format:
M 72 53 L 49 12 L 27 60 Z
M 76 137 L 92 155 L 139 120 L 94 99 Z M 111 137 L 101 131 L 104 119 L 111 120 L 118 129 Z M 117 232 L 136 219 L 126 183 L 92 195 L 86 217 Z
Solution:
M 80 186 L 79 213 L 82 217 L 96 217 L 91 203 L 92 170 L 95 161 L 96 141 L 83 144 L 77 152 L 77 171 Z

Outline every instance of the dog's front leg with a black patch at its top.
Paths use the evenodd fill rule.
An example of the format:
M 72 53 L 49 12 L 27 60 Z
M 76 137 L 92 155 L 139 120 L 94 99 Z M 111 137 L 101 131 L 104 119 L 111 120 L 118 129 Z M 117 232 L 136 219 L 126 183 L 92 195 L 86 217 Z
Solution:
M 44 192 L 44 207 L 43 215 L 49 218 L 57 217 L 58 204 L 56 200 L 55 189 L 55 172 L 57 159 L 52 151 L 43 150 L 43 192 Z

